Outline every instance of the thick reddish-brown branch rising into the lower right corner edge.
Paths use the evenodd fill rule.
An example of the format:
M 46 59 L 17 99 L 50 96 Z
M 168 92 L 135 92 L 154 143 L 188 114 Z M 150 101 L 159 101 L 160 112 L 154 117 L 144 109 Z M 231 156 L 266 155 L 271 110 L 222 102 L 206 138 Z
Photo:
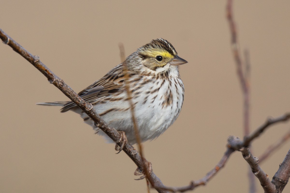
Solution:
M 272 183 L 276 186 L 277 193 L 283 191 L 290 177 L 290 149 L 282 162 L 276 174 L 272 179 Z

